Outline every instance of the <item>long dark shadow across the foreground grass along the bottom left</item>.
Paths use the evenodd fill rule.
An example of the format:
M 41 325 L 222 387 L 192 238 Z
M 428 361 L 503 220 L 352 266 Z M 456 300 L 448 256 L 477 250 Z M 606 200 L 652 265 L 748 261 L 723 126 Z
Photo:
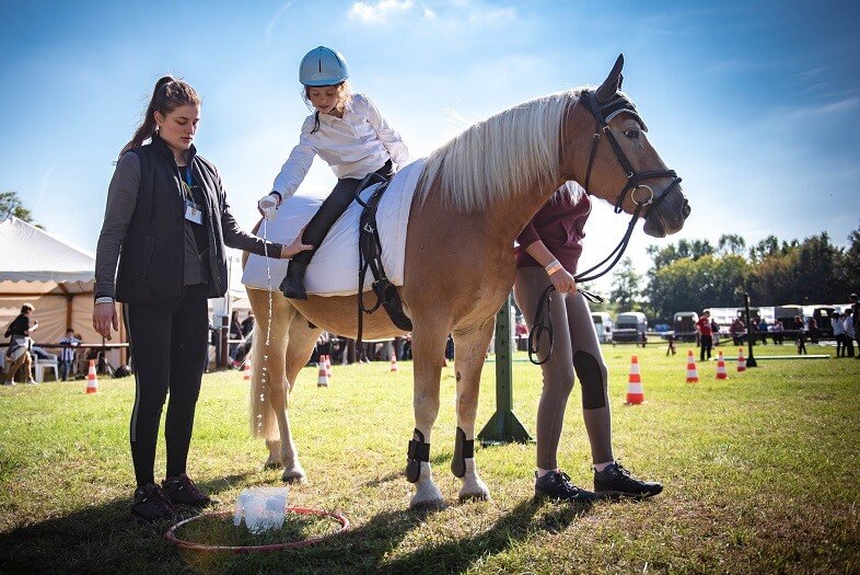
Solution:
M 239 478 L 236 478 L 239 479 Z M 223 479 L 210 484 L 224 485 Z M 217 494 L 213 485 L 212 493 Z M 536 531 L 559 531 L 588 509 L 559 505 L 535 520 L 542 504 L 514 507 L 480 533 L 434 544 L 433 532 L 407 536 L 434 513 L 400 509 L 314 547 L 259 554 L 198 552 L 164 539 L 168 525 L 140 526 L 128 519 L 129 501 L 115 499 L 0 536 L 0 572 L 54 573 L 441 573 L 460 572 L 503 552 Z M 443 511 L 442 511 L 443 513 Z M 468 520 L 467 518 L 464 520 Z M 420 547 L 426 541 L 426 547 Z M 414 549 L 414 550 L 412 550 Z

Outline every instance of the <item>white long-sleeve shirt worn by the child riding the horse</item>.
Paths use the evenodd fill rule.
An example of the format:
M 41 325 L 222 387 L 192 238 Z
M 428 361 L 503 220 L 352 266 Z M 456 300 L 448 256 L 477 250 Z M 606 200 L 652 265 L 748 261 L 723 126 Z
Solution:
M 353 94 L 342 118 L 319 114 L 316 131 L 315 116 L 314 113 L 305 118 L 299 145 L 292 149 L 272 184 L 272 189 L 283 198 L 295 193 L 315 156 L 325 160 L 338 179 L 364 177 L 388 160 L 398 165 L 409 162 L 409 150 L 400 135 L 388 127 L 365 95 Z

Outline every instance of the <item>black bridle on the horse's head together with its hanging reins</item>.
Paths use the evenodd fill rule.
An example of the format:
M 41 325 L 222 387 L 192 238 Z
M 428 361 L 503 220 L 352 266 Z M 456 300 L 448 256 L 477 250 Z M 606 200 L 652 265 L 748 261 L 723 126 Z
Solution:
M 620 83 L 618 88 L 620 89 Z M 592 143 L 591 153 L 589 154 L 589 166 L 585 170 L 585 185 L 583 186 L 585 188 L 585 193 L 589 194 L 589 185 L 591 184 L 591 169 L 594 165 L 594 158 L 597 156 L 597 145 L 600 143 L 602 136 L 605 136 L 606 140 L 608 140 L 609 146 L 615 152 L 615 158 L 618 160 L 618 163 L 621 165 L 624 173 L 627 175 L 627 183 L 618 194 L 618 198 L 615 200 L 615 212 L 620 214 L 624 211 L 624 198 L 627 196 L 628 191 L 630 192 L 630 199 L 632 199 L 636 208 L 634 209 L 632 217 L 630 218 L 630 223 L 627 225 L 627 231 L 624 233 L 621 241 L 618 242 L 618 245 L 616 245 L 615 249 L 609 252 L 609 255 L 601 260 L 600 263 L 591 266 L 584 272 L 580 272 L 574 275 L 573 279 L 578 284 L 583 281 L 592 281 L 608 274 L 609 271 L 620 261 L 624 252 L 627 251 L 627 245 L 630 243 L 630 237 L 634 233 L 634 229 L 636 228 L 636 222 L 639 220 L 639 216 L 642 214 L 642 209 L 648 206 L 648 214 L 646 217 L 651 215 L 651 212 L 672 192 L 672 188 L 681 183 L 681 177 L 678 177 L 674 170 L 646 170 L 642 172 L 637 172 L 634 169 L 632 163 L 630 163 L 630 160 L 627 158 L 627 154 L 624 153 L 621 146 L 615 138 L 612 129 L 609 129 L 609 123 L 615 116 L 619 114 L 629 114 L 636 118 L 643 131 L 648 131 L 646 123 L 642 122 L 641 117 L 639 117 L 639 114 L 636 112 L 636 106 L 632 102 L 627 100 L 627 97 L 620 93 L 616 93 L 615 97 L 605 104 L 601 104 L 597 101 L 597 97 L 589 90 L 583 90 L 580 93 L 579 101 L 581 104 L 585 104 L 589 107 L 589 111 L 591 112 L 592 116 L 594 116 L 595 122 L 594 136 L 591 139 Z M 655 177 L 672 177 L 672 182 L 656 198 L 654 198 L 654 191 L 650 186 L 647 186 L 642 183 L 646 180 L 653 180 Z M 647 197 L 641 200 L 637 198 L 637 192 L 640 189 L 648 191 Z M 607 262 L 608 265 L 606 265 L 605 269 L 596 272 Z M 541 300 L 537 302 L 537 311 L 535 312 L 535 320 L 532 324 L 532 331 L 528 334 L 528 360 L 537 366 L 547 363 L 549 360 L 549 356 L 553 354 L 553 318 L 549 314 L 549 296 L 553 294 L 553 291 L 555 291 L 555 286 L 550 284 L 541 295 Z M 583 289 L 578 288 L 578 291 L 591 301 L 603 301 L 603 298 L 600 296 Z M 533 356 L 537 355 L 537 353 L 541 350 L 537 343 L 544 332 L 547 332 L 549 335 L 549 353 L 547 353 L 543 361 L 535 360 Z

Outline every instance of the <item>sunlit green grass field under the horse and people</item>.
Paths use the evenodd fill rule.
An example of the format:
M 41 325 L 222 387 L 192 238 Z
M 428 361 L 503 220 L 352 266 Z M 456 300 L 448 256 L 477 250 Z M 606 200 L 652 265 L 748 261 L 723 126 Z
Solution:
M 733 354 L 736 349 L 722 347 Z M 775 346 L 757 353 L 774 353 Z M 492 501 L 458 504 L 449 470 L 454 372 L 442 377 L 432 438 L 434 478 L 448 503 L 409 511 L 403 478 L 412 429 L 410 363 L 335 366 L 327 389 L 302 371 L 291 419 L 309 483 L 290 504 L 339 510 L 352 529 L 316 547 L 256 555 L 179 552 L 163 529 L 127 521 L 133 490 L 127 444 L 133 380 L 0 388 L 0 573 L 858 573 L 860 572 L 860 360 L 771 360 L 717 381 L 685 384 L 686 348 L 637 349 L 647 405 L 623 405 L 630 346 L 604 348 L 611 370 L 616 457 L 665 491 L 643 503 L 591 509 L 532 499 L 534 445 L 477 449 Z M 790 346 L 780 353 L 792 353 Z M 810 346 L 833 355 L 834 348 Z M 539 368 L 518 354 L 514 411 L 534 432 Z M 495 410 L 493 364 L 478 422 Z M 591 486 L 579 386 L 568 406 L 560 463 Z M 189 473 L 232 508 L 264 471 L 249 437 L 239 372 L 205 377 Z M 163 475 L 163 444 L 156 476 Z M 232 524 L 220 524 L 226 531 Z M 291 519 L 297 538 L 330 526 Z M 219 525 L 186 532 L 216 538 Z

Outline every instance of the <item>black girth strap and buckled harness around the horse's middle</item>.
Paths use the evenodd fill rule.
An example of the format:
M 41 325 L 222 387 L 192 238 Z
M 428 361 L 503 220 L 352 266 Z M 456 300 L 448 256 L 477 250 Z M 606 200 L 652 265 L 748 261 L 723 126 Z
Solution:
M 361 198 L 361 192 L 375 185 L 368 200 Z M 376 208 L 380 205 L 383 194 L 388 188 L 388 180 L 380 174 L 372 172 L 364 176 L 356 189 L 356 202 L 362 207 L 359 218 L 359 286 L 364 285 L 364 278 L 370 269 L 373 275 L 372 291 L 376 296 L 376 302 L 368 308 L 364 304 L 364 292 L 359 289 L 358 294 L 358 337 L 357 342 L 362 341 L 364 325 L 364 314 L 373 313 L 380 306 L 385 308 L 394 325 L 404 331 L 412 330 L 412 322 L 403 311 L 403 301 L 397 295 L 394 284 L 385 275 L 385 267 L 382 264 L 382 242 L 376 227 Z

